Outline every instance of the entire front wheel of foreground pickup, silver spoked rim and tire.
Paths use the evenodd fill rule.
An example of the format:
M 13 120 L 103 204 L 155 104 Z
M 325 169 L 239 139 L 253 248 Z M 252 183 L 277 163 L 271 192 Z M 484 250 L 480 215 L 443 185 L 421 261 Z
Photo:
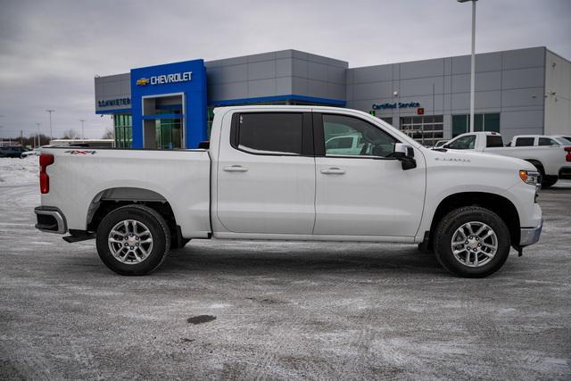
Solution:
M 478 206 L 448 213 L 434 234 L 436 258 L 459 277 L 487 277 L 509 256 L 510 236 L 505 222 Z

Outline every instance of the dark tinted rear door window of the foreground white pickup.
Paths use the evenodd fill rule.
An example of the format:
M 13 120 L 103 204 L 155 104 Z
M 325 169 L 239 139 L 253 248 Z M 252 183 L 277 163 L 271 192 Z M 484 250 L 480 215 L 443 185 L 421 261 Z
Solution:
M 261 154 L 302 154 L 302 113 L 252 112 L 238 118 L 238 149 Z

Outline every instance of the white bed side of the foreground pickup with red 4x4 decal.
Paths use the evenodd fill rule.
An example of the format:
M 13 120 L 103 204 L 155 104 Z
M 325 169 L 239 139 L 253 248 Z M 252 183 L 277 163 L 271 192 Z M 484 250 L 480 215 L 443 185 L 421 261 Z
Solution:
M 42 195 L 42 205 L 61 205 L 68 229 L 86 230 L 93 217 L 89 210 L 113 195 L 131 202 L 169 203 L 183 236 L 211 232 L 211 159 L 206 150 L 58 147 L 42 153 L 54 155 L 46 168 L 50 191 Z

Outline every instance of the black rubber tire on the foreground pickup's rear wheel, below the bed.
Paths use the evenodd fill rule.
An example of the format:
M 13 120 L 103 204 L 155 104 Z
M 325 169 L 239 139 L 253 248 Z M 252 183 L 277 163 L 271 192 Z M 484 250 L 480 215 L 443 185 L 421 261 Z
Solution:
M 126 219 L 133 219 L 144 224 L 153 238 L 150 253 L 139 263 L 121 262 L 113 256 L 109 247 L 108 239 L 112 228 Z M 97 228 L 95 241 L 99 258 L 109 269 L 120 275 L 145 275 L 157 269 L 169 253 L 170 230 L 161 214 L 152 208 L 143 205 L 127 205 L 111 211 L 103 218 Z

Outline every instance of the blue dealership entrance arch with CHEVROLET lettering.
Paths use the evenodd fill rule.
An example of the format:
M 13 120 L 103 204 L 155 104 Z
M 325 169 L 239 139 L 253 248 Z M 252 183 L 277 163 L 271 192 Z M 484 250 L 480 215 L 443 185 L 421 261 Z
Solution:
M 182 73 L 192 71 L 190 80 Z M 172 74 L 172 76 L 169 76 Z M 158 77 L 161 78 L 157 79 Z M 166 76 L 166 77 L 164 77 Z M 170 77 L 170 78 L 169 78 Z M 143 86 L 137 85 L 138 79 L 148 79 Z M 174 79 L 174 80 L 173 80 Z M 168 63 L 131 69 L 131 107 L 133 115 L 133 148 L 143 148 L 143 121 L 157 118 L 170 118 L 172 114 L 159 114 L 156 118 L 143 117 L 143 96 L 185 95 L 184 135 L 186 148 L 197 148 L 206 140 L 206 69 L 203 60 Z M 176 114 L 174 118 L 180 118 Z M 153 132 L 154 133 L 154 132 Z

